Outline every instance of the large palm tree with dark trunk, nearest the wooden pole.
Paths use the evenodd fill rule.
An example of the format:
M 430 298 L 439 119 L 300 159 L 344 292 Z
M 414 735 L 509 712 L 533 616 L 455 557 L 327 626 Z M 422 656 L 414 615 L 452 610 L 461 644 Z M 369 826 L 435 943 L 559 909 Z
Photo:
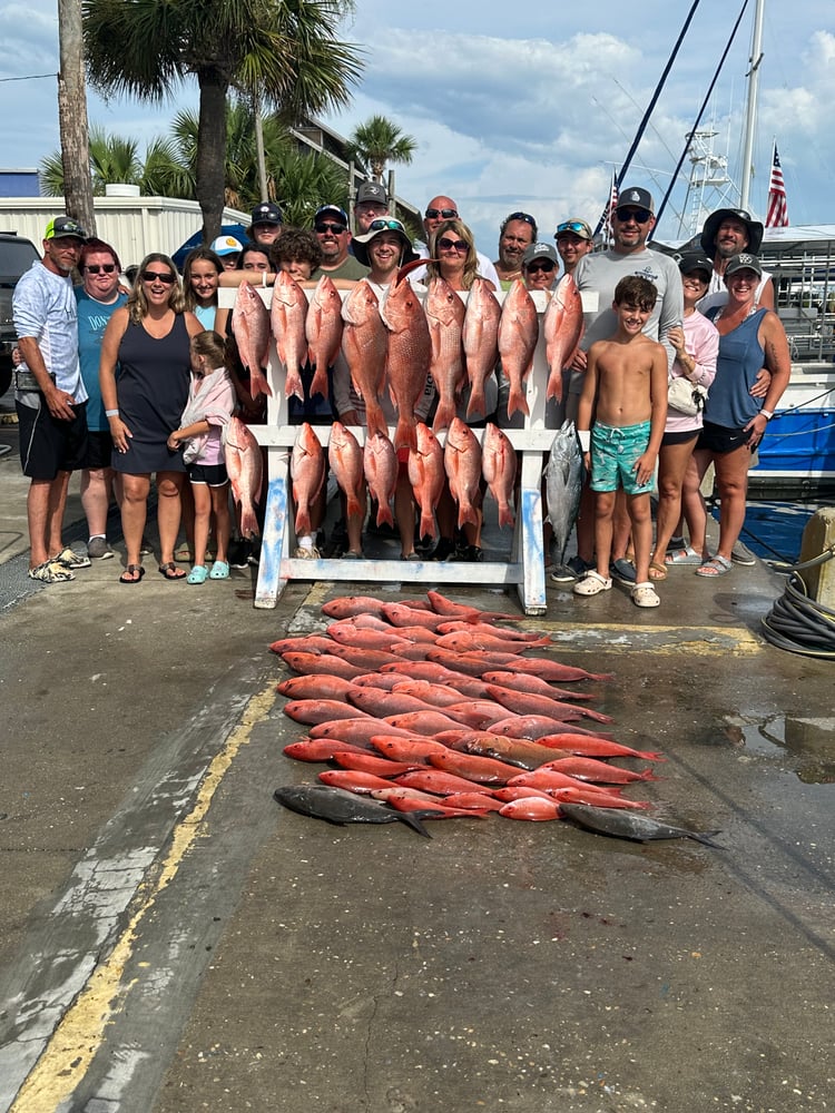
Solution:
M 102 92 L 160 102 L 186 76 L 197 79 L 205 240 L 220 232 L 229 90 L 250 96 L 259 88 L 288 117 L 346 105 L 362 71 L 357 48 L 335 33 L 348 7 L 345 0 L 86 0 L 88 70 Z

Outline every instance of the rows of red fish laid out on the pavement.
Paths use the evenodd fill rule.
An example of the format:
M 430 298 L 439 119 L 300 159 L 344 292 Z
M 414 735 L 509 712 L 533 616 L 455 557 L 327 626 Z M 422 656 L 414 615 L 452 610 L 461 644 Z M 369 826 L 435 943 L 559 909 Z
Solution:
M 284 711 L 310 727 L 285 754 L 337 767 L 316 786 L 277 789 L 286 807 L 332 823 L 401 818 L 421 834 L 428 818 L 552 820 L 577 807 L 572 818 L 608 834 L 708 838 L 623 818 L 649 807 L 625 788 L 656 778 L 611 759 L 661 755 L 615 741 L 592 693 L 557 687 L 610 677 L 527 656 L 548 649 L 548 636 L 435 591 L 425 602 L 342 597 L 323 611 L 334 620 L 324 634 L 271 647 L 298 673 L 278 684 Z

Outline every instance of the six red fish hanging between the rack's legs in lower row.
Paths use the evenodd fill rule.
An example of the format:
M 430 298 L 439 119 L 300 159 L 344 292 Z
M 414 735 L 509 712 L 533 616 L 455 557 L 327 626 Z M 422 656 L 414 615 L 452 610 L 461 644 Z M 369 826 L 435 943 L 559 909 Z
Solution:
M 465 522 L 478 524 L 482 476 L 499 506 L 499 524 L 513 525 L 510 502 L 517 472 L 517 456 L 508 436 L 488 424 L 483 447 L 460 417 L 453 417 L 443 446 L 429 426 L 419 422 L 414 430 L 415 445 L 409 450 L 409 482 L 420 509 L 420 535 L 438 536 L 435 508 L 444 481 L 458 504 L 459 529 Z M 365 444 L 342 422 L 334 422 L 327 446 L 327 462 L 345 494 L 348 515 L 361 512 L 363 487 L 376 501 L 377 525 L 394 524 L 391 502 L 397 483 L 397 453 L 387 432 L 371 432 Z M 313 427 L 299 426 L 291 455 L 293 500 L 296 505 L 296 535 L 311 532 L 310 509 L 325 481 L 325 452 Z

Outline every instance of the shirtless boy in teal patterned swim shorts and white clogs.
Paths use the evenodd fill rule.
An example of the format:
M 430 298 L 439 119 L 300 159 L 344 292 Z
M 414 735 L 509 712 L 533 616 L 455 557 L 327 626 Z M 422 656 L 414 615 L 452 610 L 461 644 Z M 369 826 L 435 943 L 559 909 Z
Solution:
M 649 579 L 650 491 L 667 420 L 667 353 L 641 332 L 657 296 L 652 283 L 638 275 L 616 286 L 617 331 L 589 348 L 577 417 L 583 460 L 591 466 L 597 568 L 574 584 L 574 594 L 597 595 L 611 588 L 615 494 L 622 486 L 635 543 L 632 602 L 638 607 L 660 603 Z

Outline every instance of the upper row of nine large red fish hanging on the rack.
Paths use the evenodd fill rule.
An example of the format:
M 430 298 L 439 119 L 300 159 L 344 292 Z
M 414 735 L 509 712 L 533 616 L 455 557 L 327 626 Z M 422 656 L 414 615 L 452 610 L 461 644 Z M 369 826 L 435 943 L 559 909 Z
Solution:
M 232 314 L 242 362 L 249 370 L 253 397 L 272 394 L 264 375 L 271 334 L 285 370 L 285 395 L 304 398 L 302 368 L 314 368 L 311 395 L 327 395 L 327 368 L 344 353 L 354 387 L 366 407 L 369 431 L 386 432 L 380 404 L 390 391 L 397 408 L 395 449 L 416 447 L 414 407 L 428 374 L 438 393 L 433 431 L 450 427 L 469 385 L 468 417 L 485 414 L 485 383 L 500 361 L 509 383 L 508 414 L 529 413 L 525 382 L 539 339 L 539 315 L 524 283 L 517 279 L 500 305 L 490 284 L 475 278 L 466 306 L 441 277 L 430 282 L 425 303 L 405 278 L 392 283 L 380 303 L 374 288 L 358 282 L 343 304 L 323 275 L 311 297 L 286 273 L 276 276 L 269 309 L 248 283 L 238 287 Z M 562 371 L 582 336 L 582 299 L 564 275 L 542 315 L 549 365 L 547 397 L 562 397 Z

